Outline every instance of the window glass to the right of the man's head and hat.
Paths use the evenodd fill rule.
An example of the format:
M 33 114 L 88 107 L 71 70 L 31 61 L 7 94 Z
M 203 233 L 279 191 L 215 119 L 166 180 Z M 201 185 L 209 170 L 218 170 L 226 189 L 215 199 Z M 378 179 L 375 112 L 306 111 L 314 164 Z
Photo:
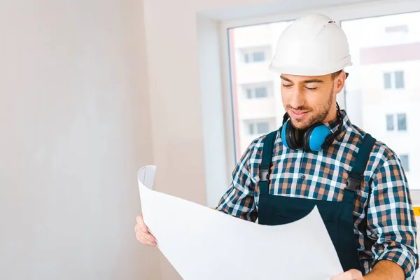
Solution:
M 353 62 L 346 68 L 350 75 L 344 91 L 351 123 L 397 155 L 420 158 L 420 149 L 407 145 L 416 143 L 419 133 L 398 133 L 411 128 L 410 121 L 415 125 L 410 115 L 415 116 L 420 108 L 420 12 L 345 20 L 341 25 Z M 398 89 L 398 94 L 386 88 Z M 393 122 L 387 115 L 393 115 Z M 378 125 L 384 116 L 386 125 Z M 409 187 L 420 189 L 419 179 L 413 176 L 420 172 L 420 162 L 412 161 L 409 169 Z

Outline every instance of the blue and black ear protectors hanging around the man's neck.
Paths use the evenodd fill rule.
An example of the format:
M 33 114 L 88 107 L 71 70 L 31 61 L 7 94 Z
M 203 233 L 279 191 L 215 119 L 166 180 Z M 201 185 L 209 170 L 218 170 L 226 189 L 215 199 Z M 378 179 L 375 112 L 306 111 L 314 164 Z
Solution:
M 332 144 L 334 138 L 341 132 L 343 119 L 341 111 L 337 104 L 337 118 L 339 127 L 336 132 L 331 133 L 330 129 L 323 123 L 314 123 L 306 130 L 297 130 L 290 123 L 288 113 L 283 116 L 283 125 L 281 126 L 281 139 L 284 146 L 292 150 L 304 148 L 306 151 L 316 152 L 325 149 Z

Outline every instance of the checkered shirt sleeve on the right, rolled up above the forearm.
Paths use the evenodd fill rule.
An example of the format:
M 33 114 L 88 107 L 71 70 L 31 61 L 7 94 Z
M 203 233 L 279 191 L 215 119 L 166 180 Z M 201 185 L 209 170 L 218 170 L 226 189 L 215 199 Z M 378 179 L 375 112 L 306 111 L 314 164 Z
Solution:
M 372 180 L 367 209 L 367 237 L 374 240 L 375 265 L 379 260 L 396 262 L 406 279 L 414 279 L 419 267 L 416 221 L 404 170 L 399 158 L 388 153 Z

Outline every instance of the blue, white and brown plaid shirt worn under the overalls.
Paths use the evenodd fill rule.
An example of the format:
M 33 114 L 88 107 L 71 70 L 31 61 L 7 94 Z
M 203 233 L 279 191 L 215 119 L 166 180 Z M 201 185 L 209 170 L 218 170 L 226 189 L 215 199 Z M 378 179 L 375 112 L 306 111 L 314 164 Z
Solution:
M 283 146 L 277 134 L 269 177 L 270 195 L 342 200 L 354 155 L 365 135 L 363 130 L 350 123 L 344 110 L 342 116 L 342 132 L 325 151 L 290 150 Z M 338 120 L 325 125 L 335 132 Z M 230 188 L 221 198 L 217 210 L 253 222 L 258 218 L 258 166 L 264 137 L 255 139 L 242 155 L 232 172 Z M 365 273 L 370 272 L 379 260 L 393 260 L 405 270 L 406 279 L 414 279 L 419 262 L 416 221 L 407 178 L 400 159 L 380 141 L 374 144 L 370 153 L 364 179 L 357 190 L 353 221 Z M 363 221 L 366 215 L 367 219 Z M 367 227 L 362 223 L 367 223 Z

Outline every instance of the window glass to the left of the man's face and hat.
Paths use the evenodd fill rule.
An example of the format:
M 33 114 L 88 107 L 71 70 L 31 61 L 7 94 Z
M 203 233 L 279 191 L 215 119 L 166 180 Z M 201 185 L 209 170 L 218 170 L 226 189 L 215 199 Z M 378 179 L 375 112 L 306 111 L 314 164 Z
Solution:
M 290 22 L 273 22 L 264 25 L 253 25 L 229 29 L 230 76 L 232 80 L 232 106 L 235 127 L 235 158 L 239 160 L 251 142 L 281 126 L 283 120 L 283 103 L 281 102 L 279 75 L 269 71 L 269 60 L 276 49 L 281 32 Z M 250 61 L 245 63 L 244 54 L 249 54 Z M 251 86 L 252 85 L 252 86 Z M 253 97 L 248 99 L 244 93 L 248 87 L 253 88 Z M 239 92 L 238 92 L 239 90 Z M 255 134 L 248 133 L 249 123 L 269 123 L 259 128 Z M 253 131 L 254 132 L 254 131 Z

